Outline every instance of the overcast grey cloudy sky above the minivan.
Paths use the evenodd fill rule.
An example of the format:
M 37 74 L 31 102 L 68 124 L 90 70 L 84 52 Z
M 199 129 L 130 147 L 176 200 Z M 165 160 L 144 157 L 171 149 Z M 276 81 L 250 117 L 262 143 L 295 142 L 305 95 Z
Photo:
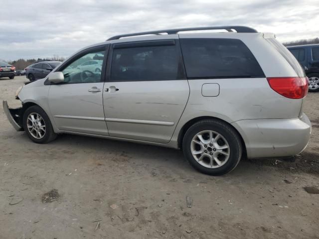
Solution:
M 246 25 L 281 42 L 319 37 L 319 0 L 8 0 L 0 3 L 0 59 L 68 57 L 112 35 Z

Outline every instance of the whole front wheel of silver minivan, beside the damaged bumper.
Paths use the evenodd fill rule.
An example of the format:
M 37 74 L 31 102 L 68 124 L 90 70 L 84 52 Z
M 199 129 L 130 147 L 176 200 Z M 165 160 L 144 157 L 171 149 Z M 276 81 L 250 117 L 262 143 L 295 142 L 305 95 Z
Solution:
M 28 137 L 36 143 L 48 143 L 56 138 L 51 121 L 38 106 L 31 106 L 23 114 L 23 128 Z

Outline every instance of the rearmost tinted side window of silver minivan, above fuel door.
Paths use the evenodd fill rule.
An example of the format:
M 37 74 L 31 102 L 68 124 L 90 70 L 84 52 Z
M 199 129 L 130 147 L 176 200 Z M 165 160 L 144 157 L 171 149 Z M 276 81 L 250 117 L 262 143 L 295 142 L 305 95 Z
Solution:
M 188 78 L 264 77 L 248 47 L 238 39 L 180 39 Z

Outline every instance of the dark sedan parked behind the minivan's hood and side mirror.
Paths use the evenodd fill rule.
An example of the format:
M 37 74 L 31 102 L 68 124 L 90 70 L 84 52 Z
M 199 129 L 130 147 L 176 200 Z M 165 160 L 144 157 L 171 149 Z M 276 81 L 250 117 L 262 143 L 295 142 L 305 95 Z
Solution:
M 25 76 L 30 81 L 35 81 L 46 77 L 55 67 L 60 65 L 60 61 L 37 61 L 26 67 Z

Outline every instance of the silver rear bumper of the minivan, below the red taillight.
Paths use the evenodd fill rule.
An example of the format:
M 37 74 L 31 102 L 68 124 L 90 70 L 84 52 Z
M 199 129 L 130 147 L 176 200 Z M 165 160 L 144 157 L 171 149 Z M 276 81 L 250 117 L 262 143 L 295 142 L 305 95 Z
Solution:
M 249 158 L 292 156 L 308 145 L 312 126 L 303 114 L 297 119 L 246 119 L 233 122 Z

